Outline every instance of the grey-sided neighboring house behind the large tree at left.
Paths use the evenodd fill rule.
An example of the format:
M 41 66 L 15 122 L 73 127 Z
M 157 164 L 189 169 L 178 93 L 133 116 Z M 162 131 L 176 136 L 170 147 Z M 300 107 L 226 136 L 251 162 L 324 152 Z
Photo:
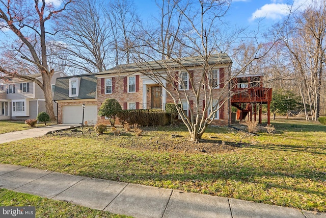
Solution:
M 56 79 L 64 76 L 67 75 L 62 71 L 53 75 L 52 96 Z M 29 77 L 42 81 L 41 74 L 31 74 Z M 53 104 L 53 108 L 56 113 L 57 105 Z M 44 93 L 36 83 L 19 78 L 0 80 L 0 119 L 31 119 L 42 111 L 45 111 Z

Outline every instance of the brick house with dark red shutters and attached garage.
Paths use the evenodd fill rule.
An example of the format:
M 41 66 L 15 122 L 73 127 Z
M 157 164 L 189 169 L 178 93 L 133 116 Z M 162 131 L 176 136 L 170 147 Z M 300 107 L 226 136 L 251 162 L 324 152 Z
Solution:
M 162 62 L 163 63 L 163 62 Z M 224 77 L 229 77 L 230 67 L 232 60 L 226 54 L 216 54 L 212 55 L 209 63 L 213 65 L 212 73 L 216 84 L 220 84 L 214 89 L 213 95 L 218 98 L 219 94 L 222 92 L 224 87 Z M 189 57 L 182 60 L 182 64 L 187 67 L 187 70 L 191 72 L 189 75 L 186 70 L 180 69 L 179 65 L 172 62 L 169 64 L 169 68 L 174 68 L 175 77 L 180 78 L 184 81 L 184 86 L 179 85 L 179 89 L 185 89 L 190 96 L 189 105 L 184 98 L 183 101 L 179 104 L 182 104 L 182 108 L 187 115 L 189 111 L 194 109 L 194 96 L 192 96 L 191 83 L 189 80 L 193 80 L 196 84 L 200 77 L 196 77 L 196 71 L 200 72 L 200 58 Z M 147 62 L 146 65 L 148 69 L 151 69 L 155 72 L 164 72 L 166 68 L 162 68 L 161 64 L 157 62 Z M 85 104 L 85 116 L 90 116 L 88 113 L 91 113 L 93 120 L 93 113 L 95 109 L 88 109 L 88 105 L 94 107 L 94 103 L 97 104 L 96 113 L 99 110 L 102 102 L 105 99 L 116 99 L 123 109 L 163 109 L 165 110 L 165 105 L 167 103 L 173 103 L 171 96 L 167 91 L 155 82 L 155 80 L 144 75 L 142 72 L 146 70 L 140 68 L 137 64 L 125 64 L 119 65 L 112 69 L 99 72 L 98 74 L 92 75 L 83 75 L 70 77 L 69 81 L 65 78 L 65 84 L 60 84 L 59 82 L 63 80 L 62 78 L 57 79 L 55 98 L 54 100 L 58 103 L 58 122 L 61 124 L 79 124 L 82 123 L 82 105 Z M 90 88 L 89 85 L 84 85 L 83 82 L 86 79 L 95 78 L 97 79 L 97 93 L 92 96 L 81 95 L 84 89 Z M 161 79 L 162 85 L 164 85 L 169 91 L 176 94 L 174 87 L 166 82 L 166 79 Z M 96 82 L 95 82 L 96 83 Z M 57 88 L 61 87 L 62 90 Z M 73 87 L 78 91 L 72 90 Z M 58 92 L 58 93 L 57 93 Z M 59 92 L 65 92 L 65 96 L 59 96 Z M 75 96 L 70 95 L 69 93 L 74 92 Z M 226 93 L 228 94 L 228 93 Z M 217 99 L 216 99 L 217 100 Z M 200 102 L 204 102 L 204 99 L 201 99 Z M 72 108 L 72 105 L 76 106 Z M 200 104 L 200 110 L 202 111 L 203 104 Z M 218 125 L 228 125 L 229 123 L 229 102 L 227 101 L 221 109 L 216 113 L 214 118 L 214 124 Z M 226 108 L 226 109 L 225 109 Z M 88 110 L 86 112 L 86 110 Z M 71 112 L 74 111 L 74 112 Z M 89 112 L 90 111 L 90 112 Z M 68 118 L 69 117 L 69 118 Z M 87 120 L 87 118 L 84 118 Z M 109 123 L 105 117 L 97 116 L 97 123 Z

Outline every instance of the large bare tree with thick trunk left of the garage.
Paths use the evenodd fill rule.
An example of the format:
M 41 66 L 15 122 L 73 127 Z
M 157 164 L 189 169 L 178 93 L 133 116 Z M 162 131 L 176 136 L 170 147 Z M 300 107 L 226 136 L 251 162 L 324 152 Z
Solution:
M 46 36 L 51 34 L 46 31 L 46 23 L 56 19 L 59 14 L 66 9 L 72 0 L 64 1 L 58 8 L 52 4 L 34 1 L 34 4 L 26 4 L 22 1 L 1 1 L 0 2 L 0 29 L 10 29 L 16 36 L 12 43 L 12 52 L 7 52 L 6 56 L 11 56 L 20 63 L 20 66 L 10 67 L 10 62 L 1 61 L 0 72 L 12 77 L 35 82 L 44 92 L 46 112 L 50 118 L 55 120 L 55 113 L 52 106 L 51 78 L 55 69 L 49 68 L 47 60 Z M 55 34 L 55 33 L 52 33 Z M 32 66 L 31 70 L 25 68 L 24 64 Z M 42 81 L 20 74 L 19 69 L 26 71 L 37 70 L 42 75 Z

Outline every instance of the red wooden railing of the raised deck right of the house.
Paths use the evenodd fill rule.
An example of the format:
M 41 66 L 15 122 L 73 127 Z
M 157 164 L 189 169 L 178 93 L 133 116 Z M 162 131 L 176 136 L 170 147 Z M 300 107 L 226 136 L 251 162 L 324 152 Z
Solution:
M 232 89 L 231 103 L 270 102 L 272 88 L 251 87 Z

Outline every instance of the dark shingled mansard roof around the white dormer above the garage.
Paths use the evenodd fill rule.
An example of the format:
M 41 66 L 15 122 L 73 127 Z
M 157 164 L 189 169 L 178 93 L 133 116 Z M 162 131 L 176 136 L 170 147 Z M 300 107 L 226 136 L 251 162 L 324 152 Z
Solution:
M 69 97 L 69 79 L 78 78 L 79 93 L 76 97 Z M 96 98 L 96 77 L 94 74 L 84 74 L 71 77 L 57 78 L 55 94 L 53 100 L 73 100 L 73 99 L 95 99 Z

